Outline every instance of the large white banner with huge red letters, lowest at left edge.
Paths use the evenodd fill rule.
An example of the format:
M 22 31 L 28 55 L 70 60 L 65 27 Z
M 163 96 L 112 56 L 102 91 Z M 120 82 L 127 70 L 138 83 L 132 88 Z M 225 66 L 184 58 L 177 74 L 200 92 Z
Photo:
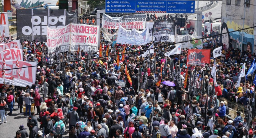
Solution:
M 0 83 L 15 86 L 26 87 L 27 85 L 32 86 L 36 82 L 36 71 L 37 62 L 23 62 L 19 61 L 19 67 L 26 67 L 21 69 L 13 69 L 16 67 L 16 61 L 5 60 L 6 69 L 5 70 L 5 80 L 2 76 L 2 71 L 0 71 Z M 35 67 L 31 67 L 35 66 Z M 0 69 L 3 68 L 3 62 L 0 62 Z M 18 71 L 20 73 L 20 78 L 18 79 Z

